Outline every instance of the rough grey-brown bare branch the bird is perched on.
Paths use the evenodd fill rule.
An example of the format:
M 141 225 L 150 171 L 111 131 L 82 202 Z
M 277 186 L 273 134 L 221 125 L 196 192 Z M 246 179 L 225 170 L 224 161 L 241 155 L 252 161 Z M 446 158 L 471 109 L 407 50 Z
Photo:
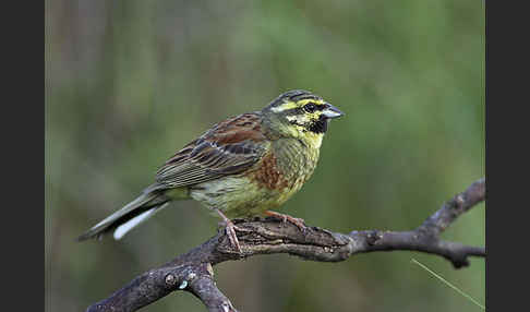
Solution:
M 288 253 L 311 261 L 339 262 L 358 253 L 409 250 L 443 256 L 460 268 L 469 265 L 469 256 L 485 257 L 485 249 L 444 241 L 439 235 L 484 200 L 485 180 L 480 179 L 410 231 L 364 230 L 345 235 L 317 227 L 301 231 L 290 223 L 272 218 L 237 220 L 241 253 L 231 247 L 225 231 L 219 231 L 202 245 L 140 275 L 86 311 L 136 311 L 174 290 L 193 293 L 208 311 L 237 311 L 216 287 L 212 266 L 257 254 Z

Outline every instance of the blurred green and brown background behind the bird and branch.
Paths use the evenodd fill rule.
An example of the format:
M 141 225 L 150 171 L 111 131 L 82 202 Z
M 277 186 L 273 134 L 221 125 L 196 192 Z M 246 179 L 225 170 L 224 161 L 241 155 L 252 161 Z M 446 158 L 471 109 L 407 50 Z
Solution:
M 84 311 L 207 240 L 216 218 L 172 204 L 123 240 L 77 243 L 173 152 L 291 88 L 346 112 L 281 212 L 311 226 L 406 230 L 485 173 L 483 1 L 46 1 L 46 311 Z M 484 204 L 445 239 L 485 243 Z M 412 252 L 215 267 L 242 311 L 480 311 L 483 259 Z M 205 311 L 178 292 L 145 311 Z M 142 310 L 142 311 L 144 311 Z

